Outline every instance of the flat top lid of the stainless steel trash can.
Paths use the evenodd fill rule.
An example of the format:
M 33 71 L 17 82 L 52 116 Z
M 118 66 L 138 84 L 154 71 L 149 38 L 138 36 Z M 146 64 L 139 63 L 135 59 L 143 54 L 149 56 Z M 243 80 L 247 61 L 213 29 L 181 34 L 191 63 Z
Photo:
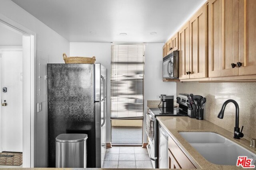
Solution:
M 56 142 L 73 143 L 81 142 L 87 139 L 87 134 L 60 134 L 56 137 Z

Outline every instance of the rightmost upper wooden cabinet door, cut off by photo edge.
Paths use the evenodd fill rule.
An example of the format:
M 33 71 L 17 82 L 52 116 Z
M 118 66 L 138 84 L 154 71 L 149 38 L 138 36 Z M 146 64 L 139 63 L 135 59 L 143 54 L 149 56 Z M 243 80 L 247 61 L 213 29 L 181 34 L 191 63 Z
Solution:
M 256 74 L 256 1 L 239 0 L 239 75 Z

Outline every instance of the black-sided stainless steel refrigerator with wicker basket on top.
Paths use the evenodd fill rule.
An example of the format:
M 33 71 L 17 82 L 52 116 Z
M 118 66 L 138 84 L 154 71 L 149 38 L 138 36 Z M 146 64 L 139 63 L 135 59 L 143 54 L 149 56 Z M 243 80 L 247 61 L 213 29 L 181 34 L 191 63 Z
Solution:
M 87 167 L 101 168 L 106 152 L 106 68 L 101 64 L 47 64 L 48 164 L 55 167 L 55 138 L 85 133 Z

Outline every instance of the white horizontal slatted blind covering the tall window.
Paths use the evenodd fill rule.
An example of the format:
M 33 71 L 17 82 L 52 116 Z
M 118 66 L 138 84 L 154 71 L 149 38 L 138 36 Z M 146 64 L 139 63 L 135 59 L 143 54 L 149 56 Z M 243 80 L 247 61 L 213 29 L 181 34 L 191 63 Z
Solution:
M 111 119 L 143 118 L 144 44 L 111 45 Z

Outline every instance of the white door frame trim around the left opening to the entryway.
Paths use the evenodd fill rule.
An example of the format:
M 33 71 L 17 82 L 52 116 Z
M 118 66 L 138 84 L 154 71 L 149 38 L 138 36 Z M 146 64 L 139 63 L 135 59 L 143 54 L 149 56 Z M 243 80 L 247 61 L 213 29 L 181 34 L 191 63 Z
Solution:
M 36 33 L 0 14 L 0 25 L 22 35 L 22 167 L 34 167 Z M 2 117 L 2 115 L 1 115 Z M 1 118 L 2 119 L 2 118 Z M 0 122 L 2 124 L 2 121 Z M 2 137 L 2 134 L 1 134 Z

